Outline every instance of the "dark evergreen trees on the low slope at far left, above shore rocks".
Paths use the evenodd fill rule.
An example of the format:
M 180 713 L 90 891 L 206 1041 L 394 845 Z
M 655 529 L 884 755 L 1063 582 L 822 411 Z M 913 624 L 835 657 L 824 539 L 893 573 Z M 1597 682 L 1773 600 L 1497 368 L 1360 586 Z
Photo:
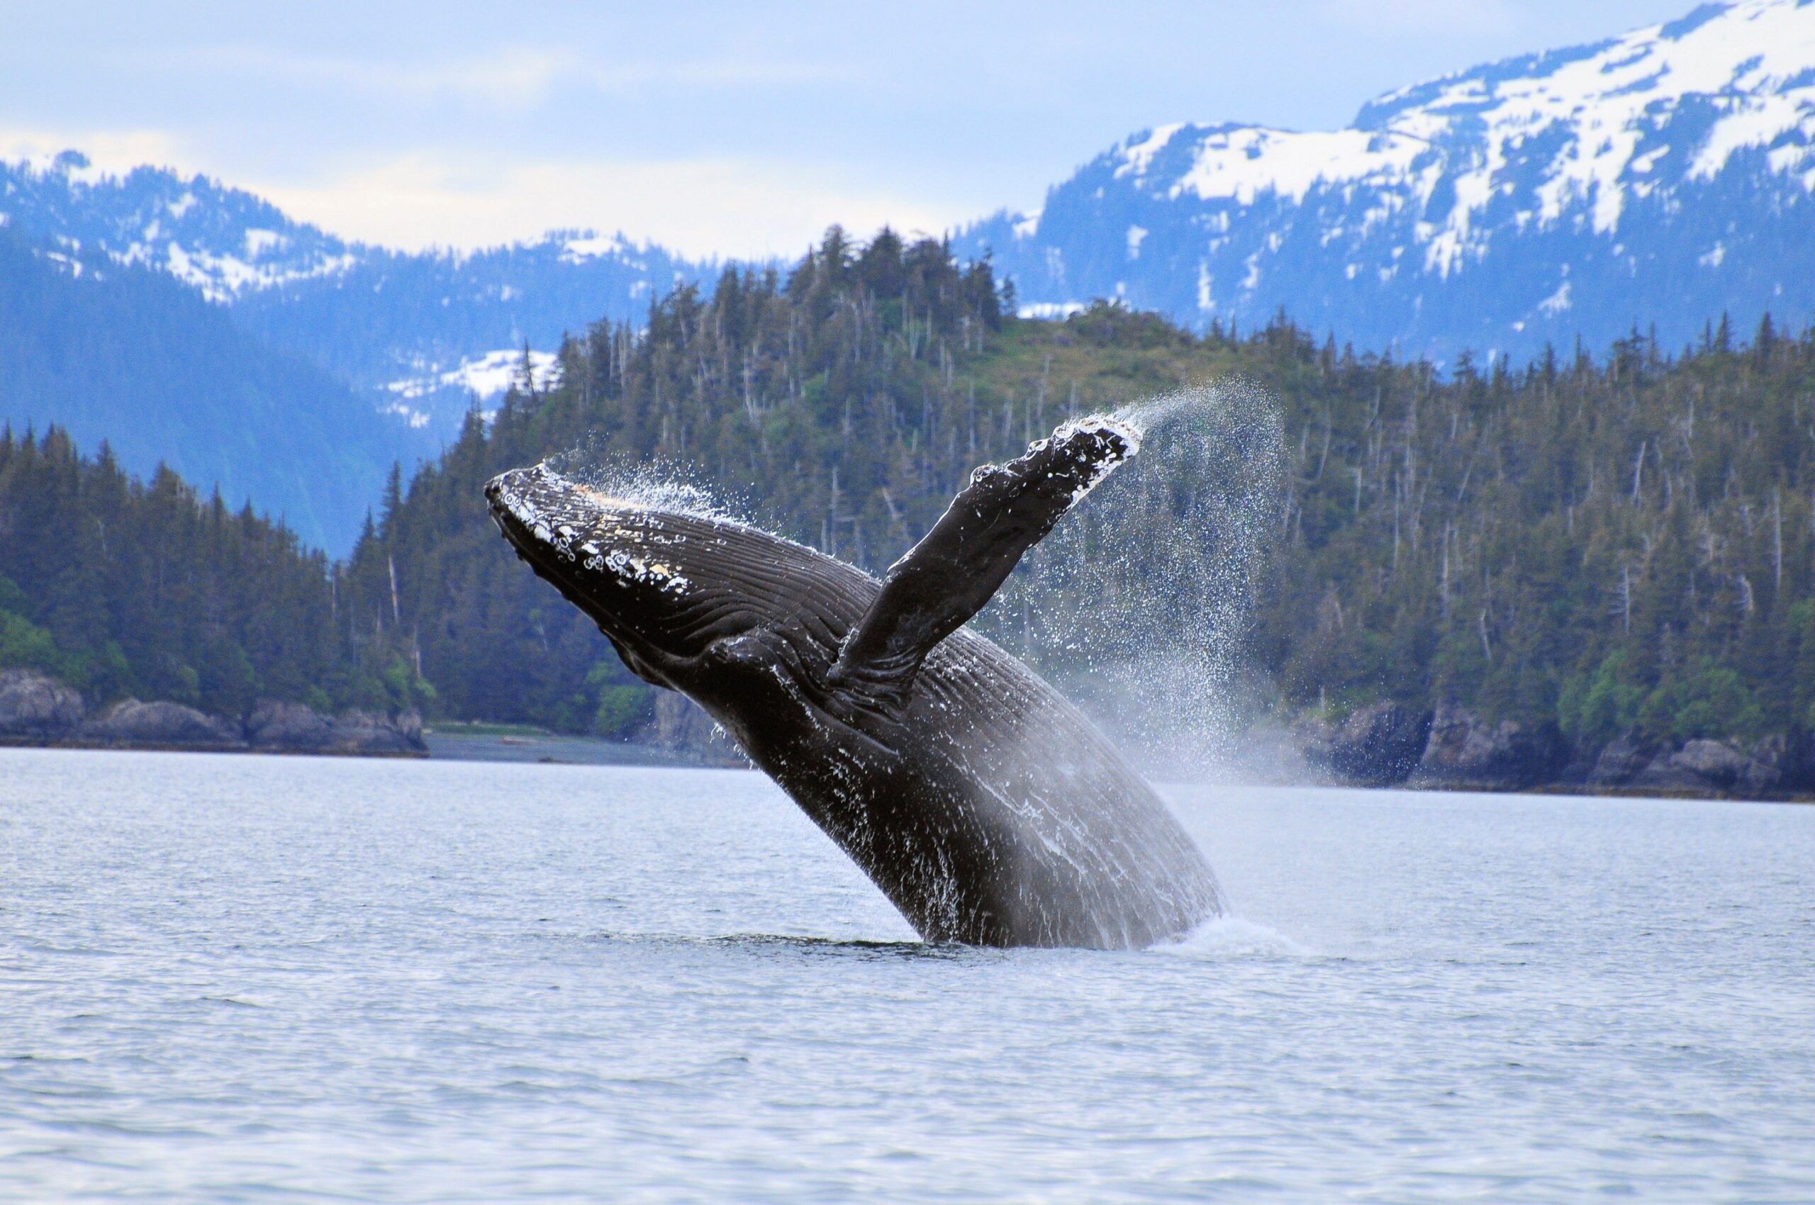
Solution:
M 425 702 L 407 646 L 352 624 L 345 577 L 169 468 L 143 483 L 105 445 L 85 457 L 60 428 L 0 430 L 0 668 L 221 715 Z

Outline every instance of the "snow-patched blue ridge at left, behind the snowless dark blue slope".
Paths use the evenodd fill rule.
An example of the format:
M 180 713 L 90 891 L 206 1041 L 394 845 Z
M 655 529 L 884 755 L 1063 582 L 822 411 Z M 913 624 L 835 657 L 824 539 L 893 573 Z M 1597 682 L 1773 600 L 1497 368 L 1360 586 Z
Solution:
M 205 176 L 96 171 L 74 151 L 0 163 L 0 225 L 71 272 L 169 272 L 250 334 L 361 388 L 414 428 L 450 434 L 501 365 L 544 358 L 566 330 L 643 318 L 655 290 L 713 270 L 590 230 L 479 252 L 396 252 L 294 221 Z M 93 270 L 93 267 L 91 267 Z

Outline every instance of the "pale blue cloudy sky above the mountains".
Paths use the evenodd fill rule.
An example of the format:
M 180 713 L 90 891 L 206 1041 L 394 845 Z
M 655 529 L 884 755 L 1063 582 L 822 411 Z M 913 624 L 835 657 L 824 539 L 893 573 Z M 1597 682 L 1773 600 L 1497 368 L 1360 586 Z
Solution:
M 0 156 L 250 189 L 343 238 L 690 256 L 937 234 L 1167 122 L 1338 129 L 1693 0 L 0 0 Z

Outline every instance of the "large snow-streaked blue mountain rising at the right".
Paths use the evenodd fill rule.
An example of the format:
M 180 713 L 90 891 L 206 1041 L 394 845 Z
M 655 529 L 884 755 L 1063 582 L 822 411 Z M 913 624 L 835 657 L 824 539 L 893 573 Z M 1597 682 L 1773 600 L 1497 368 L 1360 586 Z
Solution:
M 1163 125 L 958 238 L 1024 310 L 1281 307 L 1361 348 L 1590 348 L 1815 318 L 1815 0 L 1710 4 L 1367 103 L 1341 131 Z M 1744 327 L 1750 330 L 1750 327 Z

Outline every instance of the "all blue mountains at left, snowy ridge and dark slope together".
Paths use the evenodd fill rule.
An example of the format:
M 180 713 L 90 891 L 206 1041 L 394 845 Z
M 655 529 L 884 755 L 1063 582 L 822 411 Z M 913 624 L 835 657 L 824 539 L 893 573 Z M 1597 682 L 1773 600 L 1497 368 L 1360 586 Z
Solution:
M 581 230 L 396 252 L 205 176 L 0 163 L 0 423 L 167 463 L 341 555 L 392 461 L 434 456 L 526 348 L 546 383 L 564 332 L 717 272 Z

